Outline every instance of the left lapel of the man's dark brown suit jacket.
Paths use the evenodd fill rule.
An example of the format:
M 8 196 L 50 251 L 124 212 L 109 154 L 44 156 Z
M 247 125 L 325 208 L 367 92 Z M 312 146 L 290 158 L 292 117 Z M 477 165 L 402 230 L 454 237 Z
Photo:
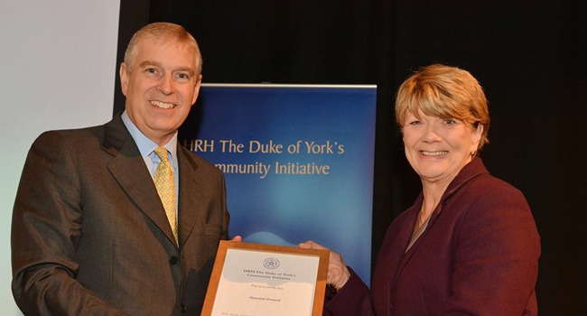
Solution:
M 108 170 L 135 205 L 175 244 L 163 204 L 133 137 L 126 130 L 120 116 L 116 116 L 104 127 L 103 147 L 114 156 L 107 164 Z

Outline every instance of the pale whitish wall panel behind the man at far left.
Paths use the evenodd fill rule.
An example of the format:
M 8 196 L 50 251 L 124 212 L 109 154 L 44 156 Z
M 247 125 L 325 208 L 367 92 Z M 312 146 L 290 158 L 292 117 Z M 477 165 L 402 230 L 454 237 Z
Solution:
M 0 315 L 10 289 L 10 222 L 26 153 L 48 129 L 112 116 L 119 0 L 0 0 Z

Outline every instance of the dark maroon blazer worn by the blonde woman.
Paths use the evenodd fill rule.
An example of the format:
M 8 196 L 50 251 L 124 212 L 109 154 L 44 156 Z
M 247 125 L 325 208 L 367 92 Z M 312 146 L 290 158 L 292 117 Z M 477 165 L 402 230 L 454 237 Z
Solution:
M 351 271 L 327 315 L 536 315 L 540 238 L 522 192 L 467 164 L 407 252 L 422 193 L 387 229 L 369 292 Z

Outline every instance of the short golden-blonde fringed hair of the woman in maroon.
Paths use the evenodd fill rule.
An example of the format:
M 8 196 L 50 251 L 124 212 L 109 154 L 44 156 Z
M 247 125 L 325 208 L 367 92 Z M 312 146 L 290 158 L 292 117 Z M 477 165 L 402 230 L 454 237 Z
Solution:
M 403 128 L 405 117 L 412 113 L 456 118 L 477 128 L 483 125 L 476 153 L 489 143 L 489 108 L 483 88 L 467 70 L 433 64 L 416 71 L 397 90 L 396 122 Z

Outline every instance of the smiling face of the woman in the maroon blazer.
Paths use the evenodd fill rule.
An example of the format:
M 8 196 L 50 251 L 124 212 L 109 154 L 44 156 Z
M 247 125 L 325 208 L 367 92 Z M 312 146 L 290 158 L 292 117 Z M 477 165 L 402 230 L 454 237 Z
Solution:
M 477 151 L 483 125 L 473 128 L 458 119 L 408 112 L 405 116 L 405 157 L 422 181 L 452 181 Z

